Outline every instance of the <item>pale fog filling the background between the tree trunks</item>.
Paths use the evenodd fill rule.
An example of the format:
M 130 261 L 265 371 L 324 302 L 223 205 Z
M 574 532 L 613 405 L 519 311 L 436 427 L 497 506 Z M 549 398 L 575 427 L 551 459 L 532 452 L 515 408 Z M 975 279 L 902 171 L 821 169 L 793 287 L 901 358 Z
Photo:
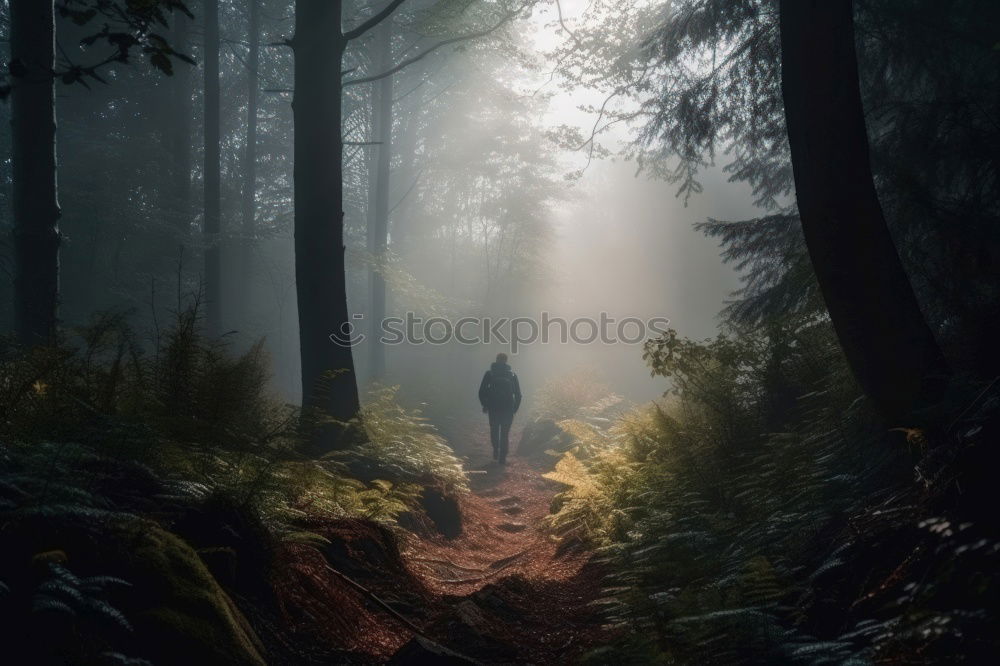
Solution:
M 561 4 L 568 26 L 578 25 L 588 6 L 582 0 Z M 414 5 L 415 16 L 421 6 Z M 283 7 L 278 0 L 264 3 L 263 43 L 280 42 L 292 31 Z M 483 15 L 470 10 L 455 25 L 434 30 L 462 33 L 467 25 L 488 23 L 488 9 L 480 8 Z M 222 3 L 221 11 L 223 42 L 230 40 L 220 74 L 223 339 L 234 351 L 263 340 L 273 390 L 297 403 L 302 390 L 292 235 L 292 58 L 287 50 L 261 51 L 254 228 L 248 230 L 240 219 L 247 64 L 236 39 L 246 30 L 247 16 L 239 3 Z M 399 21 L 394 59 L 433 42 L 407 33 L 406 21 Z M 60 30 L 64 49 L 75 48 L 85 34 L 69 25 Z M 709 217 L 754 216 L 750 192 L 743 183 L 730 183 L 717 165 L 699 176 L 703 194 L 678 197 L 676 184 L 640 173 L 623 156 L 636 138 L 629 123 L 599 133 L 593 155 L 587 145 L 572 145 L 595 127 L 606 91 L 553 74 L 554 51 L 569 39 L 555 21 L 554 5 L 542 3 L 530 17 L 458 48 L 436 50 L 392 77 L 390 259 L 381 267 L 387 314 L 412 312 L 454 323 L 462 317 L 537 319 L 543 312 L 597 320 L 606 313 L 617 321 L 667 319 L 681 335 L 713 336 L 717 314 L 739 280 L 720 260 L 716 243 L 692 226 Z M 127 312 L 140 337 L 152 344 L 184 302 L 198 293 L 204 301 L 199 79 L 205 46 L 197 24 L 185 40 L 178 49 L 199 64 L 179 63 L 177 76 L 113 66 L 106 75 L 110 85 L 59 89 L 61 318 L 67 326 L 86 323 L 94 312 Z M 346 69 L 374 72 L 375 46 L 371 38 L 359 41 L 348 51 Z M 177 85 L 189 86 L 187 126 L 177 125 L 172 106 Z M 368 239 L 378 155 L 376 89 L 351 86 L 344 96 L 348 300 L 356 330 L 368 337 L 353 350 L 362 393 L 374 381 L 369 271 L 375 264 Z M 622 101 L 617 108 L 641 101 Z M 182 136 L 189 141 L 187 219 L 175 208 L 176 195 L 162 187 L 174 163 L 161 151 L 178 131 L 187 132 Z M 567 131 L 578 134 L 567 138 Z M 95 163 L 103 166 L 94 169 Z M 177 225 L 180 236 L 169 236 Z M 667 388 L 665 380 L 649 376 L 641 343 L 558 340 L 516 351 L 497 341 L 390 345 L 385 375 L 374 383 L 401 385 L 406 402 L 422 405 L 438 420 L 474 417 L 479 379 L 501 351 L 511 354 L 528 409 L 547 380 L 579 371 L 636 402 Z

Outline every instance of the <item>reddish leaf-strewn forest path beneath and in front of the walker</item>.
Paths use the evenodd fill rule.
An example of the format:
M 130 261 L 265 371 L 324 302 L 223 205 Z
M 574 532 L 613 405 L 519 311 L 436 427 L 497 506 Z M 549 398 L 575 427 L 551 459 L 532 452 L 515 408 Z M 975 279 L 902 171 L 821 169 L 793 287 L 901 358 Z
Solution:
M 467 461 L 472 490 L 459 500 L 461 533 L 403 538 L 401 555 L 423 588 L 422 608 L 413 608 L 412 600 L 390 605 L 409 616 L 424 637 L 477 661 L 568 663 L 605 638 L 594 604 L 601 567 L 579 542 L 559 542 L 546 530 L 544 518 L 559 484 L 516 454 L 506 466 L 493 462 L 485 430 L 485 424 L 470 427 L 463 442 L 453 442 Z M 387 601 L 401 596 L 398 588 L 379 594 Z M 382 617 L 383 626 L 375 631 L 382 640 L 374 646 L 369 633 L 369 649 L 382 657 L 396 654 L 413 632 L 389 613 L 370 617 L 375 615 Z M 400 659 L 404 653 L 405 648 L 393 663 L 427 658 L 411 651 Z

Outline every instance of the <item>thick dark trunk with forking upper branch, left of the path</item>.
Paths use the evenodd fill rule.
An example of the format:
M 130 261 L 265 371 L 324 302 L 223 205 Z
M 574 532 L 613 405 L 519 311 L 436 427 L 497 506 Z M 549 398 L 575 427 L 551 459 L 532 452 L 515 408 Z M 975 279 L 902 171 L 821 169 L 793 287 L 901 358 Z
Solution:
M 295 3 L 295 278 L 302 357 L 302 404 L 347 421 L 360 408 L 351 347 L 331 335 L 350 324 L 344 271 L 341 138 L 341 0 Z M 316 429 L 319 449 L 340 443 Z

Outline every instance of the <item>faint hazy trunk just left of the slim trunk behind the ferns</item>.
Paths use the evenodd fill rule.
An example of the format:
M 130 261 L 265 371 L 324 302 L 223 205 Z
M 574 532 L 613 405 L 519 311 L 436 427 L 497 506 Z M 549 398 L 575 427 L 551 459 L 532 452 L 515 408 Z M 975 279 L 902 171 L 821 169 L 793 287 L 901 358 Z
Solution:
M 173 13 L 173 46 L 181 53 L 191 53 L 191 20 L 184 12 Z M 191 233 L 191 72 L 186 63 L 178 63 L 171 80 L 172 117 L 170 136 L 170 172 L 173 208 L 177 216 L 177 234 L 183 245 Z

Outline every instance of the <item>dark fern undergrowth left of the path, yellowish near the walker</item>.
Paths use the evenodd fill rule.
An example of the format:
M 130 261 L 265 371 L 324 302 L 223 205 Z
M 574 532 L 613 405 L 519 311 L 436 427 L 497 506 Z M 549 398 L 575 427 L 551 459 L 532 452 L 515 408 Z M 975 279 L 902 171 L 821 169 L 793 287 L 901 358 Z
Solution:
M 274 594 L 268 581 L 288 552 L 322 552 L 336 521 L 402 529 L 396 518 L 421 511 L 425 486 L 466 487 L 447 444 L 396 403 L 394 389 L 366 401 L 364 442 L 323 459 L 304 455 L 298 410 L 268 391 L 262 345 L 234 353 L 207 339 L 197 305 L 152 345 L 125 317 L 104 315 L 53 347 L 0 351 L 0 615 L 8 626 L 44 620 L 12 648 L 39 663 L 141 663 L 144 655 L 128 649 L 127 609 L 85 594 L 99 595 L 119 572 L 74 568 L 109 534 L 148 532 L 142 526 L 152 520 L 196 549 L 229 589 L 259 601 Z M 36 587 L 25 567 L 38 553 L 24 548 L 58 554 Z M 121 576 L 122 585 L 133 582 Z M 108 618 L 119 620 L 114 631 L 87 628 Z M 45 644 L 57 627 L 75 637 L 71 646 Z

